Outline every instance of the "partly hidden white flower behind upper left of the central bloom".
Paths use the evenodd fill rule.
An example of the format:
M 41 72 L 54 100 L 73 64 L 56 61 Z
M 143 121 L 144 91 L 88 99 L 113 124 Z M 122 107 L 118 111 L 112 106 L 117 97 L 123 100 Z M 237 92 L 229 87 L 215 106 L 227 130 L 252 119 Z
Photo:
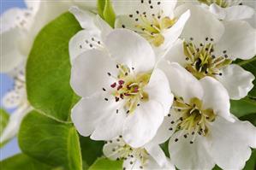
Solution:
M 112 28 L 99 15 L 89 11 L 78 7 L 71 7 L 69 11 L 84 28 L 69 40 L 69 57 L 71 64 L 73 64 L 74 59 L 86 50 L 104 50 L 103 40 L 112 31 Z

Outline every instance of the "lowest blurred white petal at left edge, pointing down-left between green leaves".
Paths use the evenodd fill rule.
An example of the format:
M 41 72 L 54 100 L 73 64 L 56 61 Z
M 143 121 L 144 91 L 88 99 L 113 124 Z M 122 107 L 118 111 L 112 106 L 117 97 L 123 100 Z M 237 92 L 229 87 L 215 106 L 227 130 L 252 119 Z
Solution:
M 15 112 L 10 115 L 7 126 L 3 129 L 3 133 L 0 137 L 0 144 L 15 137 L 15 135 L 19 132 L 21 121 L 31 109 L 32 108 L 30 108 L 27 103 L 21 105 L 19 108 L 16 108 Z

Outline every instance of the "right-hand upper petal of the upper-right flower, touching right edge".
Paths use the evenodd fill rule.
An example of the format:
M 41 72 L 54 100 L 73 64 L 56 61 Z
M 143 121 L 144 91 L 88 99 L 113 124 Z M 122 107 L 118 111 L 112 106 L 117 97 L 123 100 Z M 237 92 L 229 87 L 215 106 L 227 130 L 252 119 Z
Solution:
M 223 50 L 232 60 L 241 58 L 247 60 L 256 54 L 256 30 L 246 21 L 224 22 L 225 32 L 216 44 L 216 52 Z

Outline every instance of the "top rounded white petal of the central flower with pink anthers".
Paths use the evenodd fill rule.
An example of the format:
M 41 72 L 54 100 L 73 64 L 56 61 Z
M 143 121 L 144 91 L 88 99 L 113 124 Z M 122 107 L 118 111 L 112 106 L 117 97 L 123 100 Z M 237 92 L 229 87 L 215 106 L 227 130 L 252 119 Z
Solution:
M 108 35 L 105 45 L 117 62 L 134 67 L 135 73 L 147 72 L 154 67 L 151 45 L 135 32 L 116 29 Z

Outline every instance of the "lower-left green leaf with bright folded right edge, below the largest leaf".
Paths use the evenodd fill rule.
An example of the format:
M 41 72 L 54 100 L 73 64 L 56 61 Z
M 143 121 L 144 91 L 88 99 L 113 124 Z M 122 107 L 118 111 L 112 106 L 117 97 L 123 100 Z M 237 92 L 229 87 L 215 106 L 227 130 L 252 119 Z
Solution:
M 79 136 L 72 124 L 32 111 L 22 121 L 18 139 L 21 150 L 38 161 L 70 170 L 82 169 Z

